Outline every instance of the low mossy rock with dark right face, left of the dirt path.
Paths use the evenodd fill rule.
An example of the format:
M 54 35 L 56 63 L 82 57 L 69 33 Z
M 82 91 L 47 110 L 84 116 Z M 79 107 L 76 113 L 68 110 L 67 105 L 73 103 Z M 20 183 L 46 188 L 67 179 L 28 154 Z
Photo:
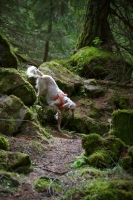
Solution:
M 20 167 L 29 168 L 31 165 L 30 158 L 27 154 L 20 152 L 0 151 L 0 169 L 6 171 L 15 171 Z

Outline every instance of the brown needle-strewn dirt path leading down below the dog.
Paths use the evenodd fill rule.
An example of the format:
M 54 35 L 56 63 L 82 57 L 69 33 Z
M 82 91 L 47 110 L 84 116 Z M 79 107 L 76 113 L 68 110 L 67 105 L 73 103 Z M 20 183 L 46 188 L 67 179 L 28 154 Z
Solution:
M 60 137 L 61 136 L 61 137 Z M 66 138 L 63 138 L 63 137 Z M 40 142 L 40 141 L 39 141 Z M 69 172 L 76 157 L 82 153 L 81 138 L 66 135 L 53 137 L 48 143 L 39 145 L 37 138 L 18 135 L 10 138 L 11 151 L 20 151 L 30 156 L 34 166 L 33 171 L 20 181 L 20 187 L 15 194 L 5 193 L 0 200 L 56 200 L 58 197 L 47 196 L 34 190 L 34 182 L 40 177 L 62 179 Z

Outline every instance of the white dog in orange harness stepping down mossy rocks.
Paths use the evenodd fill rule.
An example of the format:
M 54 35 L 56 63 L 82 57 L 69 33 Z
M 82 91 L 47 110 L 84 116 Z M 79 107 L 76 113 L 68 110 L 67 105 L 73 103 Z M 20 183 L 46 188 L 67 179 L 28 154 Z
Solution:
M 58 130 L 61 131 L 61 118 L 64 110 L 69 111 L 69 115 L 74 117 L 76 104 L 59 89 L 55 80 L 44 75 L 35 66 L 30 66 L 27 69 L 27 76 L 36 78 L 36 89 L 38 90 L 37 97 L 46 95 L 46 101 L 50 107 L 57 111 L 55 118 L 58 120 Z

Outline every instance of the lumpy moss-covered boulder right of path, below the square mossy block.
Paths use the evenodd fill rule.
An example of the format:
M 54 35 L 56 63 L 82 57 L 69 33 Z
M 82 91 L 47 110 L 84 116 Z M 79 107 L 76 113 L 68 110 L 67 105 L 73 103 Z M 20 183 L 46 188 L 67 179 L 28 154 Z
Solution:
M 102 138 L 95 133 L 83 135 L 82 146 L 88 158 L 88 164 L 98 168 L 115 166 L 120 160 L 122 163 L 122 159 L 125 159 L 124 153 L 127 152 L 126 145 L 119 138 Z M 127 163 L 127 168 L 131 167 L 131 162 Z

